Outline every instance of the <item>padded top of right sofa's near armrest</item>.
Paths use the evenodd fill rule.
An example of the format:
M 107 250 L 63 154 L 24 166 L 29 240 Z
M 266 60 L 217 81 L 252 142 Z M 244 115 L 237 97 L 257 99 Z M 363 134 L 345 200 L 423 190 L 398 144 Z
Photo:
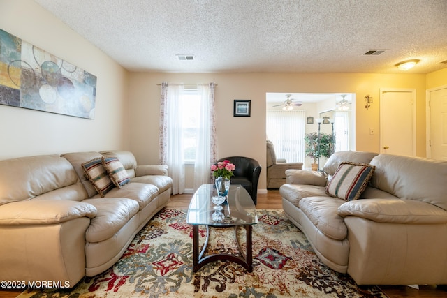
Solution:
M 378 223 L 447 223 L 447 211 L 433 204 L 403 199 L 362 199 L 338 207 L 339 216 L 357 216 Z

